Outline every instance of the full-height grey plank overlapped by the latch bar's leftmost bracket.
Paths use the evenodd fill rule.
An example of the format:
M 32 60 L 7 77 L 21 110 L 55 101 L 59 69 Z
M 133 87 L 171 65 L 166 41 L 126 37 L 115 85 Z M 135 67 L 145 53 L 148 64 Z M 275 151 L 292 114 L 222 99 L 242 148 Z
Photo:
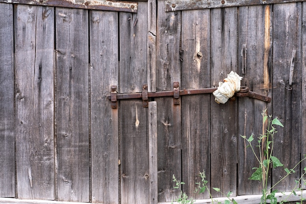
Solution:
M 118 109 L 108 99 L 118 85 L 118 13 L 90 11 L 92 203 L 119 203 Z

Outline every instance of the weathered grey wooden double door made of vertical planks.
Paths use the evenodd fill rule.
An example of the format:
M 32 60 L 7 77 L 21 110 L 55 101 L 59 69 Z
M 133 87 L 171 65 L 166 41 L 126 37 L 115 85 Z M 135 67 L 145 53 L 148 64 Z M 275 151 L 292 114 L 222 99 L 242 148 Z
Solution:
M 306 3 L 294 1 L 148 0 L 123 12 L 91 1 L 79 5 L 88 10 L 0 0 L 0 197 L 156 204 L 179 196 L 175 175 L 189 196 L 206 199 L 193 193 L 203 170 L 209 187 L 260 194 L 240 135 L 262 134 L 262 110 L 286 127 L 274 152 L 285 166 L 306 152 Z M 112 86 L 118 94 L 143 84 L 170 91 L 174 82 L 217 88 L 232 70 L 272 102 L 222 105 L 198 94 L 112 108 L 109 100 Z M 283 174 L 273 170 L 269 182 Z M 296 175 L 278 189 L 292 189 Z

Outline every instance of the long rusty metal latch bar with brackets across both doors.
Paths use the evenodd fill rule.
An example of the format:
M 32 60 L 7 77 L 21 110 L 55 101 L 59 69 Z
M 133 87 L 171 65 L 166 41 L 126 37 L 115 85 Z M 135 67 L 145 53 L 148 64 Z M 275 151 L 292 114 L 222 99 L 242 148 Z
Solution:
M 205 94 L 205 93 L 213 93 L 217 90 L 217 88 L 206 88 L 206 89 L 190 89 L 190 90 L 179 90 L 179 83 L 174 83 L 174 90 L 173 91 L 158 91 L 158 92 L 148 92 L 148 85 L 144 84 L 142 86 L 143 91 L 141 93 L 121 93 L 117 94 L 117 86 L 111 86 L 111 93 L 108 96 L 109 100 L 111 101 L 111 108 L 117 108 L 117 101 L 124 100 L 124 99 L 137 99 L 140 98 L 143 100 L 142 104 L 143 107 L 148 107 L 149 98 L 155 97 L 166 97 L 166 96 L 173 96 L 174 104 L 179 105 L 179 97 L 182 95 L 193 95 L 193 94 Z M 258 99 L 264 102 L 269 103 L 271 98 L 269 96 L 256 93 L 253 91 L 249 91 L 248 87 L 240 87 L 240 91 L 235 93 L 234 96 L 243 97 L 247 96 L 249 98 Z M 235 97 L 232 98 L 234 100 Z

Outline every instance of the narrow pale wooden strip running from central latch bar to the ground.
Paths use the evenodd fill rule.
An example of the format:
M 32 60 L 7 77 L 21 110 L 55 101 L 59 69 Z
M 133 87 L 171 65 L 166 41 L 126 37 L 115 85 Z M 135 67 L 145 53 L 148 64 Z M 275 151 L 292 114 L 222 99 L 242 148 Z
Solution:
M 157 105 L 156 101 L 149 102 L 149 178 L 150 204 L 157 204 Z

